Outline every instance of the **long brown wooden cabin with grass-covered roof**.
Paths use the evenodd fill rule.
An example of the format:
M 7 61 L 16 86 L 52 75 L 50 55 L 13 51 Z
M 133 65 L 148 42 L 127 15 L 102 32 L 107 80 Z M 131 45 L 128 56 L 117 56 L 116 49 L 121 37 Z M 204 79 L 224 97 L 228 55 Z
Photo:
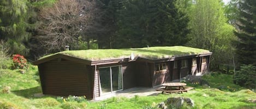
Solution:
M 85 95 L 95 99 L 132 87 L 209 71 L 209 50 L 183 46 L 70 50 L 34 61 L 43 94 Z

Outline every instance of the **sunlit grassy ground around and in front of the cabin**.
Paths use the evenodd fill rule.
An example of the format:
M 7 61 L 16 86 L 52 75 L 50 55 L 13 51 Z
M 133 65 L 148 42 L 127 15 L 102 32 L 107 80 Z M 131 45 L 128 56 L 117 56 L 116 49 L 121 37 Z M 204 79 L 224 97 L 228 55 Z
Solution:
M 249 99 L 256 99 L 256 94 L 247 89 L 237 91 L 242 87 L 232 84 L 230 75 L 212 74 L 204 76 L 210 81 L 211 88 L 193 85 L 195 90 L 183 94 L 160 94 L 132 99 L 110 98 L 100 102 L 61 103 L 56 100 L 56 97 L 34 97 L 35 93 L 41 93 L 40 85 L 36 81 L 38 79 L 36 71 L 37 68 L 35 67 L 31 67 L 25 74 L 20 74 L 17 70 L 0 69 L 0 91 L 4 86 L 11 87 L 9 94 L 0 92 L 0 108 L 3 106 L 16 108 L 85 108 L 85 106 L 86 108 L 142 108 L 145 105 L 157 104 L 169 97 L 192 98 L 196 108 L 256 108 L 255 103 L 248 101 Z M 215 89 L 220 86 L 224 92 Z M 236 91 L 229 92 L 231 89 L 236 89 Z

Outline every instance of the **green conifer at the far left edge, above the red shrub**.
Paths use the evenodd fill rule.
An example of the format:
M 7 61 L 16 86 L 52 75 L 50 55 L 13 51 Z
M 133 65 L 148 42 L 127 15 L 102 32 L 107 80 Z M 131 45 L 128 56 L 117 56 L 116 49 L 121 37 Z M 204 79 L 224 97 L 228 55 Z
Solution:
M 30 34 L 27 32 L 29 24 L 27 0 L 1 0 L 0 1 L 0 40 L 9 43 L 11 53 L 28 55 L 27 42 Z

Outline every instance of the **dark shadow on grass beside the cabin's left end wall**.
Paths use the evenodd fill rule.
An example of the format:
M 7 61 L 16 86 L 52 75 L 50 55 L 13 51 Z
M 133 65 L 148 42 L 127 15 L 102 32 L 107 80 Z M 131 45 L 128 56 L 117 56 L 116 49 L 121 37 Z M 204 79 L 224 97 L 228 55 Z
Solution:
M 21 90 L 16 90 L 16 91 L 11 91 L 17 96 L 25 97 L 25 98 L 38 98 L 35 97 L 34 94 L 37 93 L 42 93 L 41 87 L 33 87 L 33 88 L 27 88 L 27 89 L 21 89 Z

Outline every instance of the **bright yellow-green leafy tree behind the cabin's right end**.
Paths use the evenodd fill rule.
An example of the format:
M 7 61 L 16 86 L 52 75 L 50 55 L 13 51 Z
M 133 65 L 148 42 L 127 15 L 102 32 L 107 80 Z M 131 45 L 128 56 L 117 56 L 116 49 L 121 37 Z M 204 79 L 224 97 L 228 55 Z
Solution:
M 223 5 L 216 0 L 195 0 L 190 7 L 189 34 L 190 47 L 210 50 L 212 54 L 213 69 L 219 66 L 233 65 L 234 47 L 232 41 L 236 40 L 234 27 L 227 23 L 224 16 Z

